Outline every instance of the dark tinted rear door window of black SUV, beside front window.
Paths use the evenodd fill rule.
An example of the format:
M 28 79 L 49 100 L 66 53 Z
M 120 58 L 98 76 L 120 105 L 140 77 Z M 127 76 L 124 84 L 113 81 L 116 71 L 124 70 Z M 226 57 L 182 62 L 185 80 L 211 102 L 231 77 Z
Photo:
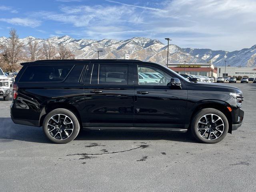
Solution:
M 99 84 L 127 85 L 128 65 L 100 65 Z

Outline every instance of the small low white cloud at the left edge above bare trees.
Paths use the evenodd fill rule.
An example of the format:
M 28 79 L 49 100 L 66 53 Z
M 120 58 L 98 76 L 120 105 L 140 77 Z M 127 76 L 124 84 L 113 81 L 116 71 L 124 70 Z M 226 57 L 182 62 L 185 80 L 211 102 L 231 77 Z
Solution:
M 30 19 L 30 18 L 0 18 L 0 21 L 7 22 L 9 24 L 20 25 L 20 26 L 28 26 L 28 27 L 37 27 L 40 26 L 41 22 L 38 20 Z

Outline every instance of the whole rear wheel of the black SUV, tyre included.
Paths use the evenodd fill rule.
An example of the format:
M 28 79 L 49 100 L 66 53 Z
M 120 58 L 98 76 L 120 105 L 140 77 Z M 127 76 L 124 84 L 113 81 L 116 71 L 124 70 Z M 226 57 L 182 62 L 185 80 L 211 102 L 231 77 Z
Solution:
M 44 118 L 44 134 L 54 143 L 64 144 L 74 140 L 79 130 L 78 118 L 70 110 L 58 108 L 49 112 Z

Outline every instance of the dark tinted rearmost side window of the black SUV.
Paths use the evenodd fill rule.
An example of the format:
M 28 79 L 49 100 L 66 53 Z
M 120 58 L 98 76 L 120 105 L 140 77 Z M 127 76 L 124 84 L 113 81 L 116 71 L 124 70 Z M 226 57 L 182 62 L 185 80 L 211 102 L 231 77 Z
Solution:
M 28 66 L 19 82 L 62 82 L 74 65 Z

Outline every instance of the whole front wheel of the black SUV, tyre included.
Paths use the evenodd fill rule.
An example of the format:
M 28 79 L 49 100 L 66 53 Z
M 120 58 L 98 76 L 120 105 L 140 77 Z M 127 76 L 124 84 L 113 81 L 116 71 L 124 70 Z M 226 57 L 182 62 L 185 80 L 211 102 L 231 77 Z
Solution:
M 218 143 L 228 133 L 228 119 L 219 110 L 205 108 L 198 111 L 191 123 L 196 140 L 203 143 Z

